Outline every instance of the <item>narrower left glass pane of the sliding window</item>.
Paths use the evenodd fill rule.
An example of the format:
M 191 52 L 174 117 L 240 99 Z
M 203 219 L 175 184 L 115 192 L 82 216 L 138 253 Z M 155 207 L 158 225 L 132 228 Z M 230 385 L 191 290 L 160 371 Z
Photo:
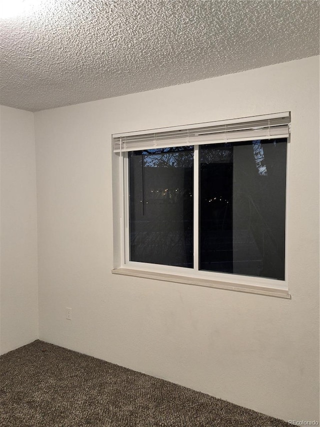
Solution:
M 193 147 L 129 152 L 130 261 L 193 267 Z

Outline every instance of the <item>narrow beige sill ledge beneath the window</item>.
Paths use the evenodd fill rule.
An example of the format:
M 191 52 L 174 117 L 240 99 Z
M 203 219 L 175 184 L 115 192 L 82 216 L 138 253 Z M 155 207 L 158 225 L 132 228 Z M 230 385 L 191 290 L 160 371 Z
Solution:
M 291 299 L 291 295 L 285 289 L 270 288 L 264 286 L 252 286 L 242 283 L 219 282 L 216 280 L 195 278 L 188 276 L 180 276 L 175 274 L 159 273 L 153 271 L 133 270 L 129 268 L 115 268 L 111 270 L 113 274 L 121 274 L 124 276 L 143 277 L 145 279 L 163 280 L 165 282 L 185 283 L 187 285 L 206 286 L 216 289 L 233 290 L 236 292 L 255 293 L 259 295 L 268 295 L 278 298 Z

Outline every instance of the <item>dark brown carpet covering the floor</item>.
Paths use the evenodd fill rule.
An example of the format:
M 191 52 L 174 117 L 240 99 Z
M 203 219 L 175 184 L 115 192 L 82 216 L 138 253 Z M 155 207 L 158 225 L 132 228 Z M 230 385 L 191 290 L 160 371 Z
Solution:
M 34 341 L 0 356 L 1 427 L 284 427 L 285 421 Z

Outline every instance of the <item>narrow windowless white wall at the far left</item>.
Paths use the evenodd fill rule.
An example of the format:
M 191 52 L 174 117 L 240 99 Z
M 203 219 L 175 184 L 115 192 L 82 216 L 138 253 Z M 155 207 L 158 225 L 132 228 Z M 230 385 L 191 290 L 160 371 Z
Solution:
M 33 114 L 0 107 L 0 354 L 38 337 Z

